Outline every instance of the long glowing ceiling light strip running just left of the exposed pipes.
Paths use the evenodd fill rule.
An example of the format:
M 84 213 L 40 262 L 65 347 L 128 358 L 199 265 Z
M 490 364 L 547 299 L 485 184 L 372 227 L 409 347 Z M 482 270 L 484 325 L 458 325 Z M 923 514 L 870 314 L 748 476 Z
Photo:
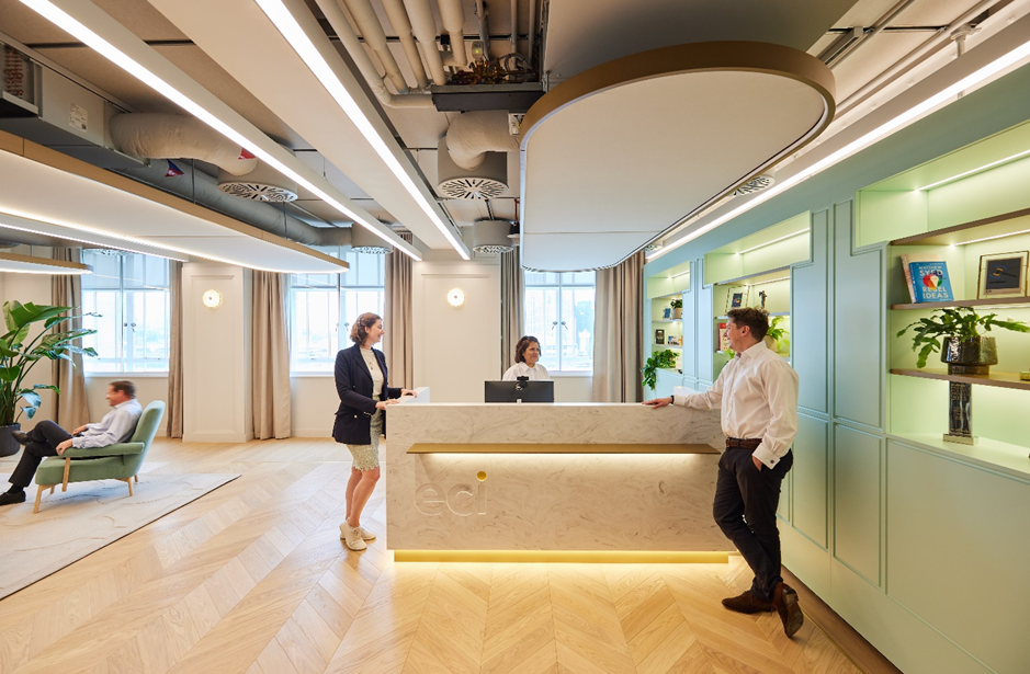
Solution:
M 286 38 L 286 42 L 288 42 L 293 50 L 297 53 L 301 60 L 310 68 L 312 73 L 318 78 L 318 81 L 326 88 L 326 91 L 329 92 L 332 100 L 337 102 L 337 105 L 340 106 L 343 114 L 358 127 L 361 135 L 365 137 L 365 140 L 369 141 L 375 150 L 375 153 L 378 155 L 380 159 L 389 168 L 394 176 L 400 181 L 400 184 L 404 185 L 404 189 L 407 190 L 408 194 L 416 201 L 419 208 L 429 216 L 432 224 L 446 237 L 446 240 L 454 247 L 454 250 L 457 251 L 462 259 L 469 260 L 471 258 L 468 253 L 465 252 L 465 247 L 459 242 L 451 228 L 437 215 L 432 205 L 418 189 L 418 185 L 415 184 L 415 181 L 411 180 L 411 176 L 408 175 L 407 171 L 404 170 L 404 167 L 400 165 L 400 162 L 397 161 L 397 158 L 386 146 L 383 137 L 375 130 L 372 122 L 358 105 L 358 102 L 354 101 L 350 92 L 347 91 L 343 82 L 340 81 L 332 71 L 332 67 L 322 58 L 321 54 L 319 54 L 315 43 L 313 43 L 312 38 L 304 32 L 304 28 L 301 27 L 297 20 L 290 13 L 286 5 L 282 3 L 282 0 L 254 0 L 254 2 L 258 3 L 261 11 L 269 18 L 272 25 Z

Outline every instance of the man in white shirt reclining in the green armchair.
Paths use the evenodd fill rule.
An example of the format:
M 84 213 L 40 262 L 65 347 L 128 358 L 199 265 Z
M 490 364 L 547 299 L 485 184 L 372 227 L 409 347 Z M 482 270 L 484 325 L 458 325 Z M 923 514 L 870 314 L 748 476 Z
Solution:
M 136 401 L 132 381 L 112 381 L 107 387 L 112 410 L 98 423 L 79 426 L 70 434 L 53 421 L 41 421 L 29 433 L 15 432 L 14 439 L 25 446 L 18 467 L 11 473 L 11 489 L 0 494 L 0 505 L 24 503 L 25 488 L 36 468 L 48 456 L 60 456 L 69 447 L 100 448 L 123 443 L 133 436 L 143 408 Z

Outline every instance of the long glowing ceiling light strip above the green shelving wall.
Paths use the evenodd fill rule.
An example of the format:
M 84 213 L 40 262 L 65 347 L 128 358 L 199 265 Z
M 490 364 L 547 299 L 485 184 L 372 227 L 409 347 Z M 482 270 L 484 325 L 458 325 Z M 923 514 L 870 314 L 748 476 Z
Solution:
M 812 178 L 816 173 L 825 171 L 826 169 L 833 167 L 834 164 L 839 163 L 840 161 L 847 159 L 851 155 L 854 155 L 856 152 L 859 152 L 865 149 L 867 147 L 873 145 L 874 142 L 882 140 L 883 138 L 890 136 L 891 134 L 898 130 L 906 124 L 928 113 L 929 111 L 933 110 L 938 105 L 946 103 L 948 99 L 955 96 L 959 93 L 962 93 L 966 89 L 970 89 L 971 87 L 974 87 L 975 84 L 978 84 L 980 82 L 986 80 L 987 78 L 994 75 L 997 75 L 1001 70 L 1005 70 L 1009 66 L 1012 66 L 1021 61 L 1028 56 L 1030 56 L 1030 42 L 1025 42 L 1023 44 L 1016 47 L 1008 54 L 995 59 L 994 61 L 987 64 L 980 70 L 976 70 L 975 72 L 962 78 L 961 80 L 951 84 L 950 87 L 942 89 L 941 91 L 928 98 L 927 100 L 923 101 L 918 105 L 915 105 L 908 108 L 906 112 L 899 114 L 898 116 L 894 117 L 890 122 L 886 122 L 885 124 L 880 125 L 879 127 L 874 128 L 873 130 L 869 132 L 868 134 L 858 138 L 857 140 L 849 142 L 848 145 L 844 146 L 836 152 L 833 152 L 831 155 L 824 157 L 823 159 L 815 162 L 811 167 L 806 169 L 802 169 L 800 172 L 785 179 L 783 182 L 777 183 L 774 186 L 766 190 L 765 192 L 759 193 L 756 197 L 754 197 L 746 204 L 743 204 L 739 207 L 734 208 L 726 215 L 715 218 L 711 222 L 708 222 L 706 225 L 699 227 L 698 229 L 677 239 L 676 241 L 672 241 L 671 243 L 666 243 L 665 248 L 648 255 L 647 259 L 656 260 L 660 258 L 661 255 L 668 253 L 669 251 L 675 250 L 679 248 L 680 245 L 697 239 L 701 235 L 715 229 L 720 225 L 728 222 L 729 220 L 747 213 L 748 210 L 758 206 L 759 204 L 762 204 L 769 201 L 770 198 L 777 196 L 778 194 L 781 194 L 782 192 L 790 190 L 791 187 L 802 182 L 803 180 Z

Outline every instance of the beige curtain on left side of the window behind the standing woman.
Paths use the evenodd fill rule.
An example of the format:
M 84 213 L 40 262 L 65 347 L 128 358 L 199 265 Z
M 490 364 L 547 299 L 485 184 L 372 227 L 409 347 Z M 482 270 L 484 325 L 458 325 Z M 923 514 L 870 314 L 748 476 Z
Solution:
M 286 332 L 286 274 L 252 272 L 251 354 L 253 434 L 257 439 L 290 437 L 290 343 Z

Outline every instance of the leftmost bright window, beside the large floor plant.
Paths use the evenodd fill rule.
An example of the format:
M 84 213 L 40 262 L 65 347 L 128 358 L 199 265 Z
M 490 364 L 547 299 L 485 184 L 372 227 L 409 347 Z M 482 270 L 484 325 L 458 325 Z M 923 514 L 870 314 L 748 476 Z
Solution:
M 167 373 L 169 353 L 168 260 L 122 251 L 84 250 L 93 267 L 82 276 L 82 320 L 97 331 L 82 339 L 97 350 L 87 373 Z

